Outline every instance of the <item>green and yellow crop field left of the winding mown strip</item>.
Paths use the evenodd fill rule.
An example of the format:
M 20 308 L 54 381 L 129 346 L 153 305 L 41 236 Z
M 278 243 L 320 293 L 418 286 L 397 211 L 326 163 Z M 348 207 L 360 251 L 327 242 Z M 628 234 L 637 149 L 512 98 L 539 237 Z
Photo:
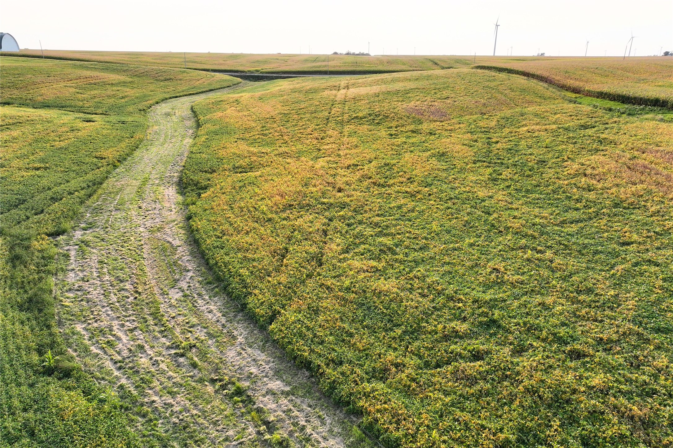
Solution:
M 49 236 L 70 229 L 82 204 L 139 145 L 152 104 L 238 80 L 5 57 L 0 75 L 0 440 L 133 446 L 122 402 L 65 352 L 52 281 L 61 254 Z

